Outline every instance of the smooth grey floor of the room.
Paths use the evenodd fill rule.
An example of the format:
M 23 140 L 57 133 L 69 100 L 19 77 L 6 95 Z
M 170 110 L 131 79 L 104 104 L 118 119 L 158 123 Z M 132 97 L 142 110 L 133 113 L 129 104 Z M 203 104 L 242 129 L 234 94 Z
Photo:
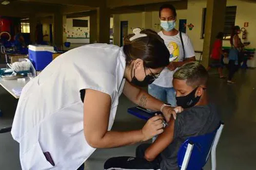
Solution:
M 225 80 L 210 73 L 209 96 L 220 108 L 225 127 L 217 147 L 217 170 L 256 170 L 256 69 L 240 70 L 236 84 L 227 85 Z M 0 88 L 0 127 L 11 123 L 17 101 Z M 120 98 L 114 123 L 116 130 L 141 128 L 144 121 L 128 115 L 126 109 L 133 104 Z M 137 145 L 98 149 L 87 161 L 86 170 L 102 170 L 104 161 L 112 156 L 134 155 Z M 0 134 L 0 170 L 20 170 L 19 145 L 10 133 Z M 210 170 L 209 162 L 205 170 Z

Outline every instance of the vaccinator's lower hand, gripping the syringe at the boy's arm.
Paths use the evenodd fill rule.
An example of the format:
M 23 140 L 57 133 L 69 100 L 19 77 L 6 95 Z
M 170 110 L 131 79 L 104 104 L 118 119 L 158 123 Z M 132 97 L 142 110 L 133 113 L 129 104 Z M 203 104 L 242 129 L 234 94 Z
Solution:
M 141 132 L 144 136 L 143 141 L 147 141 L 152 137 L 161 134 L 163 132 L 163 117 L 158 115 L 148 119 Z

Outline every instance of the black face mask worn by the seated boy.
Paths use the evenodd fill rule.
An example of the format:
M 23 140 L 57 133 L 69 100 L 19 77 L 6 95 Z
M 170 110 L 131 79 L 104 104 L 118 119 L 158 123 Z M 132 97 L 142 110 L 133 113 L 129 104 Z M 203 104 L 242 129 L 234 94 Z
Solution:
M 195 97 L 197 88 L 195 88 L 192 92 L 190 92 L 186 96 L 176 97 L 177 106 L 181 106 L 182 108 L 187 109 L 196 105 L 201 98 L 201 96 Z

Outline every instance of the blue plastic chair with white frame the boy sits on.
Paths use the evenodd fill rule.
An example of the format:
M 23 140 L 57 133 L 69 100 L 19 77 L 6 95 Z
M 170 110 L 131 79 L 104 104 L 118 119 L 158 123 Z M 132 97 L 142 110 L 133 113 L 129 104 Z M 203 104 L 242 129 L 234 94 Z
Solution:
M 202 170 L 209 154 L 212 157 L 212 170 L 216 170 L 216 148 L 224 123 L 212 133 L 189 137 L 179 148 L 178 166 L 180 170 Z

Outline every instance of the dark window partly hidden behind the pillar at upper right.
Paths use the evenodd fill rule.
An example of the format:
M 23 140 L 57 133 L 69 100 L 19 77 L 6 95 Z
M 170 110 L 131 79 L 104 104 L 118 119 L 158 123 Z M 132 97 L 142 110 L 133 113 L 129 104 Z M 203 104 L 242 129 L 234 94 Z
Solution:
M 203 20 L 202 20 L 202 32 L 201 39 L 204 38 L 206 20 L 206 8 L 203 8 Z M 235 26 L 236 21 L 236 6 L 227 6 L 225 12 L 225 23 L 224 23 L 224 39 L 229 39 L 232 31 L 232 27 Z

